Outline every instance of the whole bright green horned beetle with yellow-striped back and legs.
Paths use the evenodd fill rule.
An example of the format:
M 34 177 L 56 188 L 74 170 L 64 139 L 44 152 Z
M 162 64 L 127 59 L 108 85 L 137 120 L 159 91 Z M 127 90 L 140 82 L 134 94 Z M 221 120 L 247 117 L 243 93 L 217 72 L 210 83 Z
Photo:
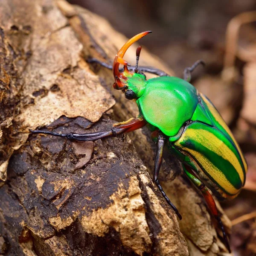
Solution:
M 152 131 L 151 138 L 157 143 L 153 180 L 163 197 L 181 219 L 180 213 L 165 194 L 158 180 L 163 148 L 167 145 L 169 151 L 182 161 L 185 174 L 204 196 L 212 215 L 220 224 L 225 244 L 230 251 L 215 201 L 207 187 L 218 199 L 236 197 L 244 186 L 247 164 L 239 145 L 214 105 L 189 83 L 191 72 L 202 61 L 197 61 L 192 67 L 186 68 L 184 79 L 170 77 L 161 70 L 138 68 L 141 50 L 141 47 L 138 47 L 136 66 L 128 69 L 127 66 L 130 64 L 123 59 L 126 50 L 150 32 L 142 32 L 128 40 L 113 62 L 115 78 L 113 88 L 122 90 L 127 99 L 136 99 L 140 111 L 137 118 L 117 123 L 110 131 L 90 134 L 58 134 L 40 130 L 31 132 L 89 141 L 115 137 L 148 124 Z M 107 64 L 101 64 L 108 67 Z M 122 72 L 119 70 L 120 64 L 124 65 Z M 147 80 L 145 75 L 138 71 L 147 71 L 160 77 Z

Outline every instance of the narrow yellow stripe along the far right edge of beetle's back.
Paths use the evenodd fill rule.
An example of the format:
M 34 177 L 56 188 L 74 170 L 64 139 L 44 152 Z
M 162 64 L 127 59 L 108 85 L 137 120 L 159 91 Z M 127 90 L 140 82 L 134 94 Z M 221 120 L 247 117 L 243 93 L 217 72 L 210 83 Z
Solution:
M 236 139 L 234 138 L 232 132 L 230 131 L 230 128 L 228 128 L 227 124 L 224 122 L 223 118 L 221 117 L 221 115 L 218 113 L 218 111 L 212 106 L 212 104 L 209 102 L 209 100 L 204 96 L 204 94 L 199 93 L 200 96 L 203 98 L 205 104 L 207 105 L 207 107 L 209 108 L 209 110 L 211 111 L 212 115 L 214 116 L 214 118 L 216 119 L 216 121 L 227 131 L 227 133 L 229 134 L 229 136 L 231 137 L 231 139 L 233 140 L 233 143 L 235 143 L 237 150 L 239 151 L 239 154 L 241 156 L 241 160 L 244 164 L 244 170 L 245 173 L 247 172 L 247 163 L 244 159 L 244 155 L 238 145 L 238 143 L 236 142 Z M 242 181 L 244 179 L 241 179 Z

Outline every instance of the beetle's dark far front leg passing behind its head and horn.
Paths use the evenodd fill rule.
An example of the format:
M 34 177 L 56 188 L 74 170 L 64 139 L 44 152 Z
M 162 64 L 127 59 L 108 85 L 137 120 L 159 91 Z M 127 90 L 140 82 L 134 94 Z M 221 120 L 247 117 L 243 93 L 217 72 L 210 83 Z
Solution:
M 103 67 L 106 67 L 110 70 L 113 69 L 113 65 L 109 65 L 106 62 L 100 61 L 97 58 L 89 58 L 87 59 L 88 63 L 97 63 L 102 65 Z M 135 66 L 130 66 L 129 70 L 135 72 L 136 67 Z M 121 70 L 120 70 L 121 71 Z M 166 72 L 164 72 L 163 70 L 159 70 L 157 68 L 153 68 L 153 67 L 137 67 L 137 73 L 141 73 L 141 72 L 147 72 L 147 73 L 151 73 L 151 74 L 155 74 L 157 76 L 169 76 Z

